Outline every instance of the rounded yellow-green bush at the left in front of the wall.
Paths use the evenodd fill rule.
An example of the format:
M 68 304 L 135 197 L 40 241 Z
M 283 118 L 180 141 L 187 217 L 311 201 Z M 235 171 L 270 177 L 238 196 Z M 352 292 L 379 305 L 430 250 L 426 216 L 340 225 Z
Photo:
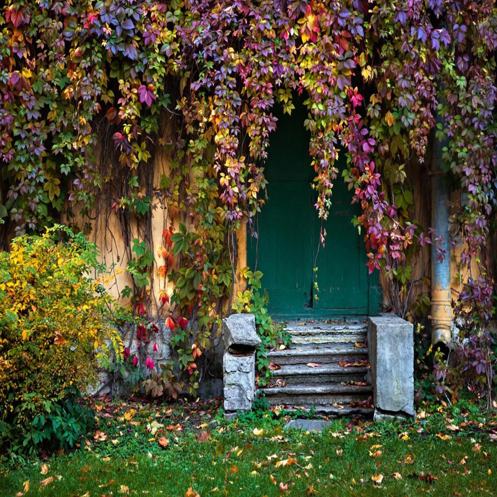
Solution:
M 63 226 L 23 235 L 0 252 L 0 445 L 7 450 L 70 448 L 93 422 L 80 392 L 96 384 L 109 338 L 122 351 L 105 321 L 110 297 L 90 276 L 103 270 L 94 245 Z

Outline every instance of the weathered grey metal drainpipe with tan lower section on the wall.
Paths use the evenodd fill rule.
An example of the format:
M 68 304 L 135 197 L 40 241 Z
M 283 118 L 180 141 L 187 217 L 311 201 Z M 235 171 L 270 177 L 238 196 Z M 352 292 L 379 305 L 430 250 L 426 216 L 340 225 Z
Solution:
M 431 245 L 431 343 L 448 344 L 452 341 L 452 307 L 450 295 L 450 186 L 443 175 L 442 147 L 445 145 L 434 139 L 432 156 L 432 211 L 431 226 L 436 236 L 443 237 L 439 247 L 445 250 L 443 262 L 436 258 L 435 244 Z

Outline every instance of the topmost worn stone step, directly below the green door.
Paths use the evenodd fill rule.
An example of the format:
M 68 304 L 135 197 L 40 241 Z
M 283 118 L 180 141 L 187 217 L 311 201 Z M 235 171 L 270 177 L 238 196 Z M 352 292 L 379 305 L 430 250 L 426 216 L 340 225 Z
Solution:
M 364 341 L 367 337 L 365 323 L 324 323 L 289 322 L 286 331 L 292 343 L 353 343 Z

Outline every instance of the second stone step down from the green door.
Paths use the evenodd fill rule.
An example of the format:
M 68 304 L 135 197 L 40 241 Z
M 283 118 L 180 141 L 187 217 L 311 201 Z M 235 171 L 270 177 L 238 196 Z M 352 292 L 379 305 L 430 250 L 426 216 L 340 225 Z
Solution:
M 284 350 L 274 350 L 267 353 L 274 364 L 338 364 L 339 361 L 355 362 L 368 358 L 367 347 L 356 347 L 352 343 L 328 345 L 291 345 Z

